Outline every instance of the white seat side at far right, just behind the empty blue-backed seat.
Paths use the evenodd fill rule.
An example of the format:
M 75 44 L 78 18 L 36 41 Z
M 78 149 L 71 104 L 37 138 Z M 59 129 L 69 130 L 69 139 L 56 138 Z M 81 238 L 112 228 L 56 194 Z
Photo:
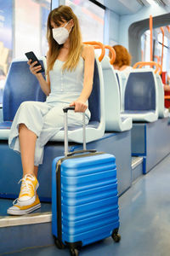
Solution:
M 161 82 L 161 77 L 158 73 L 156 73 L 156 81 L 158 88 L 158 117 L 160 119 L 166 118 L 169 116 L 168 108 L 164 106 L 164 90 L 163 84 Z

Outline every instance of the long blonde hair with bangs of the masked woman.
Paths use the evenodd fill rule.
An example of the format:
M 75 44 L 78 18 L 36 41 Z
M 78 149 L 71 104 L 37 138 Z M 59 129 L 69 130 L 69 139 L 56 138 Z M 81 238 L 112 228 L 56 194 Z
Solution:
M 60 5 L 58 8 L 53 9 L 48 15 L 47 38 L 49 51 L 47 73 L 53 69 L 54 62 L 56 61 L 59 55 L 59 50 L 62 47 L 62 44 L 59 45 L 53 38 L 51 21 L 53 21 L 57 26 L 60 26 L 61 22 L 68 22 L 69 20 L 73 20 L 74 26 L 69 33 L 70 49 L 68 59 L 63 65 L 63 70 L 73 70 L 77 67 L 77 63 L 82 53 L 82 34 L 80 31 L 80 26 L 77 16 L 73 13 L 72 9 L 69 6 Z

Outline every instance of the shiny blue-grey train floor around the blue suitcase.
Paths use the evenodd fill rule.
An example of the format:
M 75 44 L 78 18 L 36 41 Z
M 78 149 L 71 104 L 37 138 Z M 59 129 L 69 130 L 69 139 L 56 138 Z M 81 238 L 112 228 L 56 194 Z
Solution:
M 169 256 L 170 255 L 170 155 L 119 198 L 119 243 L 107 238 L 83 247 L 80 256 Z M 67 249 L 54 245 L 31 247 L 10 256 L 67 256 Z

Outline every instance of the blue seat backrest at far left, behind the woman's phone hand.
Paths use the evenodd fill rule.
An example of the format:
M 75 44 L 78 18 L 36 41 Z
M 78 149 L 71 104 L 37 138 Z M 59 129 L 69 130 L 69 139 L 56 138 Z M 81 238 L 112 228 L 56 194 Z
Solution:
M 21 102 L 44 102 L 45 99 L 46 96 L 37 78 L 31 74 L 27 61 L 14 60 L 8 70 L 3 92 L 3 120 L 13 120 Z

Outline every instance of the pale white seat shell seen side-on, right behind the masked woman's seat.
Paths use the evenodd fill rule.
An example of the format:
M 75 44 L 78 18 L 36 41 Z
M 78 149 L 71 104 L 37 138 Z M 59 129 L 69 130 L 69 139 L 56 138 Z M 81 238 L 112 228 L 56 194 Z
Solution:
M 132 128 L 132 119 L 121 114 L 119 84 L 108 56 L 103 58 L 101 66 L 105 87 L 105 131 L 128 131 Z

